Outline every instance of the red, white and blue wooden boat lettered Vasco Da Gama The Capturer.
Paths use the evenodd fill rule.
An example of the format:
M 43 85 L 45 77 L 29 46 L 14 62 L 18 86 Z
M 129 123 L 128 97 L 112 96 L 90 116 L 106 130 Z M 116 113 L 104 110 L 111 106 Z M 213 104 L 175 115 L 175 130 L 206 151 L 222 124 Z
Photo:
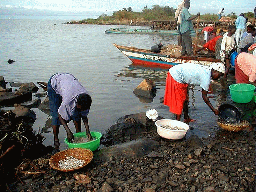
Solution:
M 175 57 L 174 54 L 154 53 L 146 49 L 137 49 L 136 47 L 127 47 L 113 44 L 126 57 L 128 57 L 133 64 L 146 65 L 152 67 L 170 68 L 181 63 L 195 63 L 200 65 L 210 65 L 215 62 L 221 62 L 219 59 L 213 58 L 213 54 L 199 54 L 199 57 Z

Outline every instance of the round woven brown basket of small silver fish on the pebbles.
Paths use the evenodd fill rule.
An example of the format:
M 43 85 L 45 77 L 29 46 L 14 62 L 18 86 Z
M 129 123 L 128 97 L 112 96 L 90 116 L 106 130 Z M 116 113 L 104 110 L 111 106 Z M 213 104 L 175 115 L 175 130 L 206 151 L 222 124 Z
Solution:
M 66 149 L 51 156 L 49 164 L 59 171 L 74 171 L 85 167 L 93 159 L 90 149 L 72 148 Z

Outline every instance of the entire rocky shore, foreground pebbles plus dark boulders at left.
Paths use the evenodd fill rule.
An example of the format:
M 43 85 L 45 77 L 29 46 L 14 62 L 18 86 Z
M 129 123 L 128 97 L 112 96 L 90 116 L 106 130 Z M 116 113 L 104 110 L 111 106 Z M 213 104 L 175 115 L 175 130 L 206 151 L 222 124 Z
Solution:
M 4 87 L 6 84 L 4 79 L 2 82 L 3 90 L 0 92 L 2 99 L 3 95 L 9 99 L 2 103 L 8 105 L 17 99 L 23 102 L 29 101 L 32 92 L 37 91 L 31 92 L 35 89 L 34 84 L 26 84 L 21 87 L 28 91 L 19 92 L 23 90 L 20 88 L 13 93 L 12 90 Z M 141 87 L 145 87 L 145 84 L 142 83 Z M 154 90 L 154 84 L 151 88 Z M 28 96 L 21 97 L 24 93 Z M 12 99 L 7 97 L 8 94 L 11 94 Z M 38 108 L 49 110 L 48 102 L 46 97 L 42 103 L 39 102 L 41 107 Z M 34 106 L 35 103 L 21 103 L 21 105 L 29 107 Z M 1 123 L 5 126 L 1 128 L 6 130 L 15 128 L 16 118 L 23 119 L 22 121 L 34 120 L 34 113 L 24 106 L 16 105 L 15 110 L 12 111 L 15 116 L 10 111 L 2 111 Z M 21 112 L 23 110 L 27 113 Z M 61 172 L 49 165 L 52 154 L 47 151 L 52 148 L 42 145 L 43 138 L 39 134 L 32 133 L 29 122 L 26 125 L 19 124 L 28 130 L 23 136 L 27 137 L 27 133 L 31 133 L 32 138 L 35 138 L 29 140 L 27 156 L 24 155 L 22 148 L 13 150 L 12 143 L 9 143 L 9 148 L 1 147 L 0 168 L 4 179 L 1 180 L 0 185 L 1 189 L 6 189 L 4 191 L 256 191 L 255 124 L 239 132 L 216 129 L 215 137 L 204 142 L 196 135 L 181 140 L 168 140 L 158 135 L 154 121 L 148 119 L 144 112 L 126 115 L 118 119 L 116 124 L 103 135 L 100 148 L 94 151 L 93 160 L 89 164 L 77 171 Z M 15 132 L 17 138 L 21 135 L 20 132 L 19 130 Z M 3 137 L 4 130 L 1 130 L 1 133 Z M 25 144 L 26 140 L 23 141 Z M 34 149 L 34 151 L 42 153 L 35 157 L 36 153 L 30 149 L 33 147 L 38 149 L 36 143 L 42 149 L 37 151 Z M 43 153 L 44 149 L 48 150 Z M 11 150 L 12 156 L 8 156 Z

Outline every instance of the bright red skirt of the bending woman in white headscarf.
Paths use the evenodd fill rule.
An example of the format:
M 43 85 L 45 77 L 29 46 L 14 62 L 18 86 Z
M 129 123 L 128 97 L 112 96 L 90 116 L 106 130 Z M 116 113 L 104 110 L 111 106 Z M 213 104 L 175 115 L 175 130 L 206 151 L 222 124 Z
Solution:
M 188 84 L 175 81 L 168 72 L 163 104 L 169 106 L 170 112 L 181 115 L 186 100 L 187 87 Z

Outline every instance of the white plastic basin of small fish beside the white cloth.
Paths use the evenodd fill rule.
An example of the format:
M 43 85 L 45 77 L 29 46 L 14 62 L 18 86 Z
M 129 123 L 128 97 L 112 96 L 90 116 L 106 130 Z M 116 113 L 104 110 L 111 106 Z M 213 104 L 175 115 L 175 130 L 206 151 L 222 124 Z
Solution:
M 172 119 L 160 119 L 155 121 L 157 133 L 166 139 L 182 139 L 189 130 L 189 125 Z

